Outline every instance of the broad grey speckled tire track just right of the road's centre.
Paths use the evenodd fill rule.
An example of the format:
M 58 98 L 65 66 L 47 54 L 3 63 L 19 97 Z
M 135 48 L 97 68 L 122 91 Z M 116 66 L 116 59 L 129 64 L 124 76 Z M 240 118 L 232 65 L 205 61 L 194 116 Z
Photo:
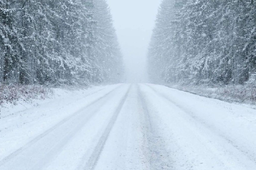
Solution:
M 148 110 L 148 104 L 145 101 L 145 96 L 143 95 L 139 85 L 137 85 L 138 95 L 140 97 L 140 102 L 143 107 L 143 114 L 145 117 L 146 127 L 145 137 L 148 143 L 148 148 L 145 151 L 148 155 L 150 170 L 172 170 L 172 160 L 170 158 L 170 153 L 164 147 L 163 140 L 154 128 L 151 115 Z

